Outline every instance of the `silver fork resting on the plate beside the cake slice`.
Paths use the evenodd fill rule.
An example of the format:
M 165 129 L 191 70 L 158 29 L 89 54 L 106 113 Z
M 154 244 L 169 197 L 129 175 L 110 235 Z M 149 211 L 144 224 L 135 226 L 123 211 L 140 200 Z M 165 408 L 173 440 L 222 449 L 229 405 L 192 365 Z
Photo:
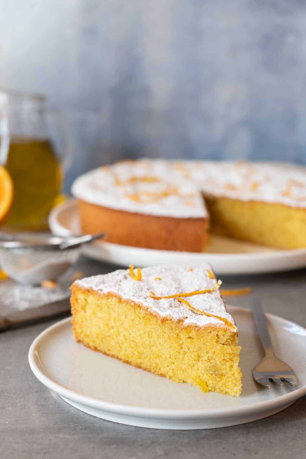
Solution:
M 259 299 L 254 297 L 250 298 L 250 305 L 253 310 L 258 335 L 266 353 L 261 362 L 253 368 L 253 378 L 262 386 L 269 388 L 271 387 L 272 381 L 278 386 L 284 386 L 284 381 L 289 382 L 291 386 L 297 386 L 297 380 L 293 369 L 282 360 L 275 357 L 266 317 L 261 308 Z

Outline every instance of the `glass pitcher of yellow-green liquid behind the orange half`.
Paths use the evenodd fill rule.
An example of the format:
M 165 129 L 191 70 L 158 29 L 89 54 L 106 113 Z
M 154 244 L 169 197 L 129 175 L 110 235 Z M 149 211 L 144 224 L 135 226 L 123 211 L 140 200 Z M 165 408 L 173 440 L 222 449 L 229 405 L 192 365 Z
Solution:
M 6 228 L 46 228 L 71 156 L 67 119 L 47 112 L 44 96 L 0 89 L 0 163 L 14 184 Z

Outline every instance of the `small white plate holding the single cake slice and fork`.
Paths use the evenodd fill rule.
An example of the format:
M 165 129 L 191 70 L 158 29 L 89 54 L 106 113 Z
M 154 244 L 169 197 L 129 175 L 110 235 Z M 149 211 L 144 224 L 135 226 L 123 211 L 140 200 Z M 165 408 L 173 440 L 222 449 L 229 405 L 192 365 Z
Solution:
M 202 393 L 77 343 L 71 319 L 43 331 L 28 358 L 34 375 L 67 403 L 102 419 L 158 429 L 209 429 L 244 424 L 287 408 L 306 393 L 306 330 L 267 314 L 276 355 L 290 364 L 299 388 L 265 389 L 252 378 L 262 350 L 250 310 L 228 307 L 239 327 L 242 346 L 240 397 Z

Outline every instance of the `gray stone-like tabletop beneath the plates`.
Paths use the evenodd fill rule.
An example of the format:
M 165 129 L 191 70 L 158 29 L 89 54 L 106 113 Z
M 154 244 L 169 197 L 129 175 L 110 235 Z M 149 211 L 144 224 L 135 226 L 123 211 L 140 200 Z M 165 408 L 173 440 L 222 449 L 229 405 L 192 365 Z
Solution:
M 105 265 L 86 258 L 80 261 L 80 269 L 88 274 L 106 272 Z M 250 286 L 267 312 L 306 327 L 305 280 L 306 270 L 223 276 L 223 288 Z M 248 306 L 247 297 L 232 297 L 227 302 Z M 121 425 L 72 408 L 43 386 L 28 365 L 31 342 L 58 319 L 0 333 L 1 459 L 306 457 L 306 397 L 263 420 L 198 431 Z

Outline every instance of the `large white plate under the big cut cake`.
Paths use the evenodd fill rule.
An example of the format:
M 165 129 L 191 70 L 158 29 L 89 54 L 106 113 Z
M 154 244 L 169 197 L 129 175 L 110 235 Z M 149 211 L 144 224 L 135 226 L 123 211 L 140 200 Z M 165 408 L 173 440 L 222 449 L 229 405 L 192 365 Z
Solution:
M 77 202 L 68 200 L 50 213 L 51 231 L 59 236 L 80 233 Z M 174 252 L 122 246 L 111 242 L 86 245 L 83 253 L 89 257 L 120 266 L 154 266 L 171 263 L 211 263 L 219 274 L 258 274 L 287 271 L 306 266 L 306 248 L 276 250 L 247 242 L 217 236 L 211 237 L 207 252 Z

